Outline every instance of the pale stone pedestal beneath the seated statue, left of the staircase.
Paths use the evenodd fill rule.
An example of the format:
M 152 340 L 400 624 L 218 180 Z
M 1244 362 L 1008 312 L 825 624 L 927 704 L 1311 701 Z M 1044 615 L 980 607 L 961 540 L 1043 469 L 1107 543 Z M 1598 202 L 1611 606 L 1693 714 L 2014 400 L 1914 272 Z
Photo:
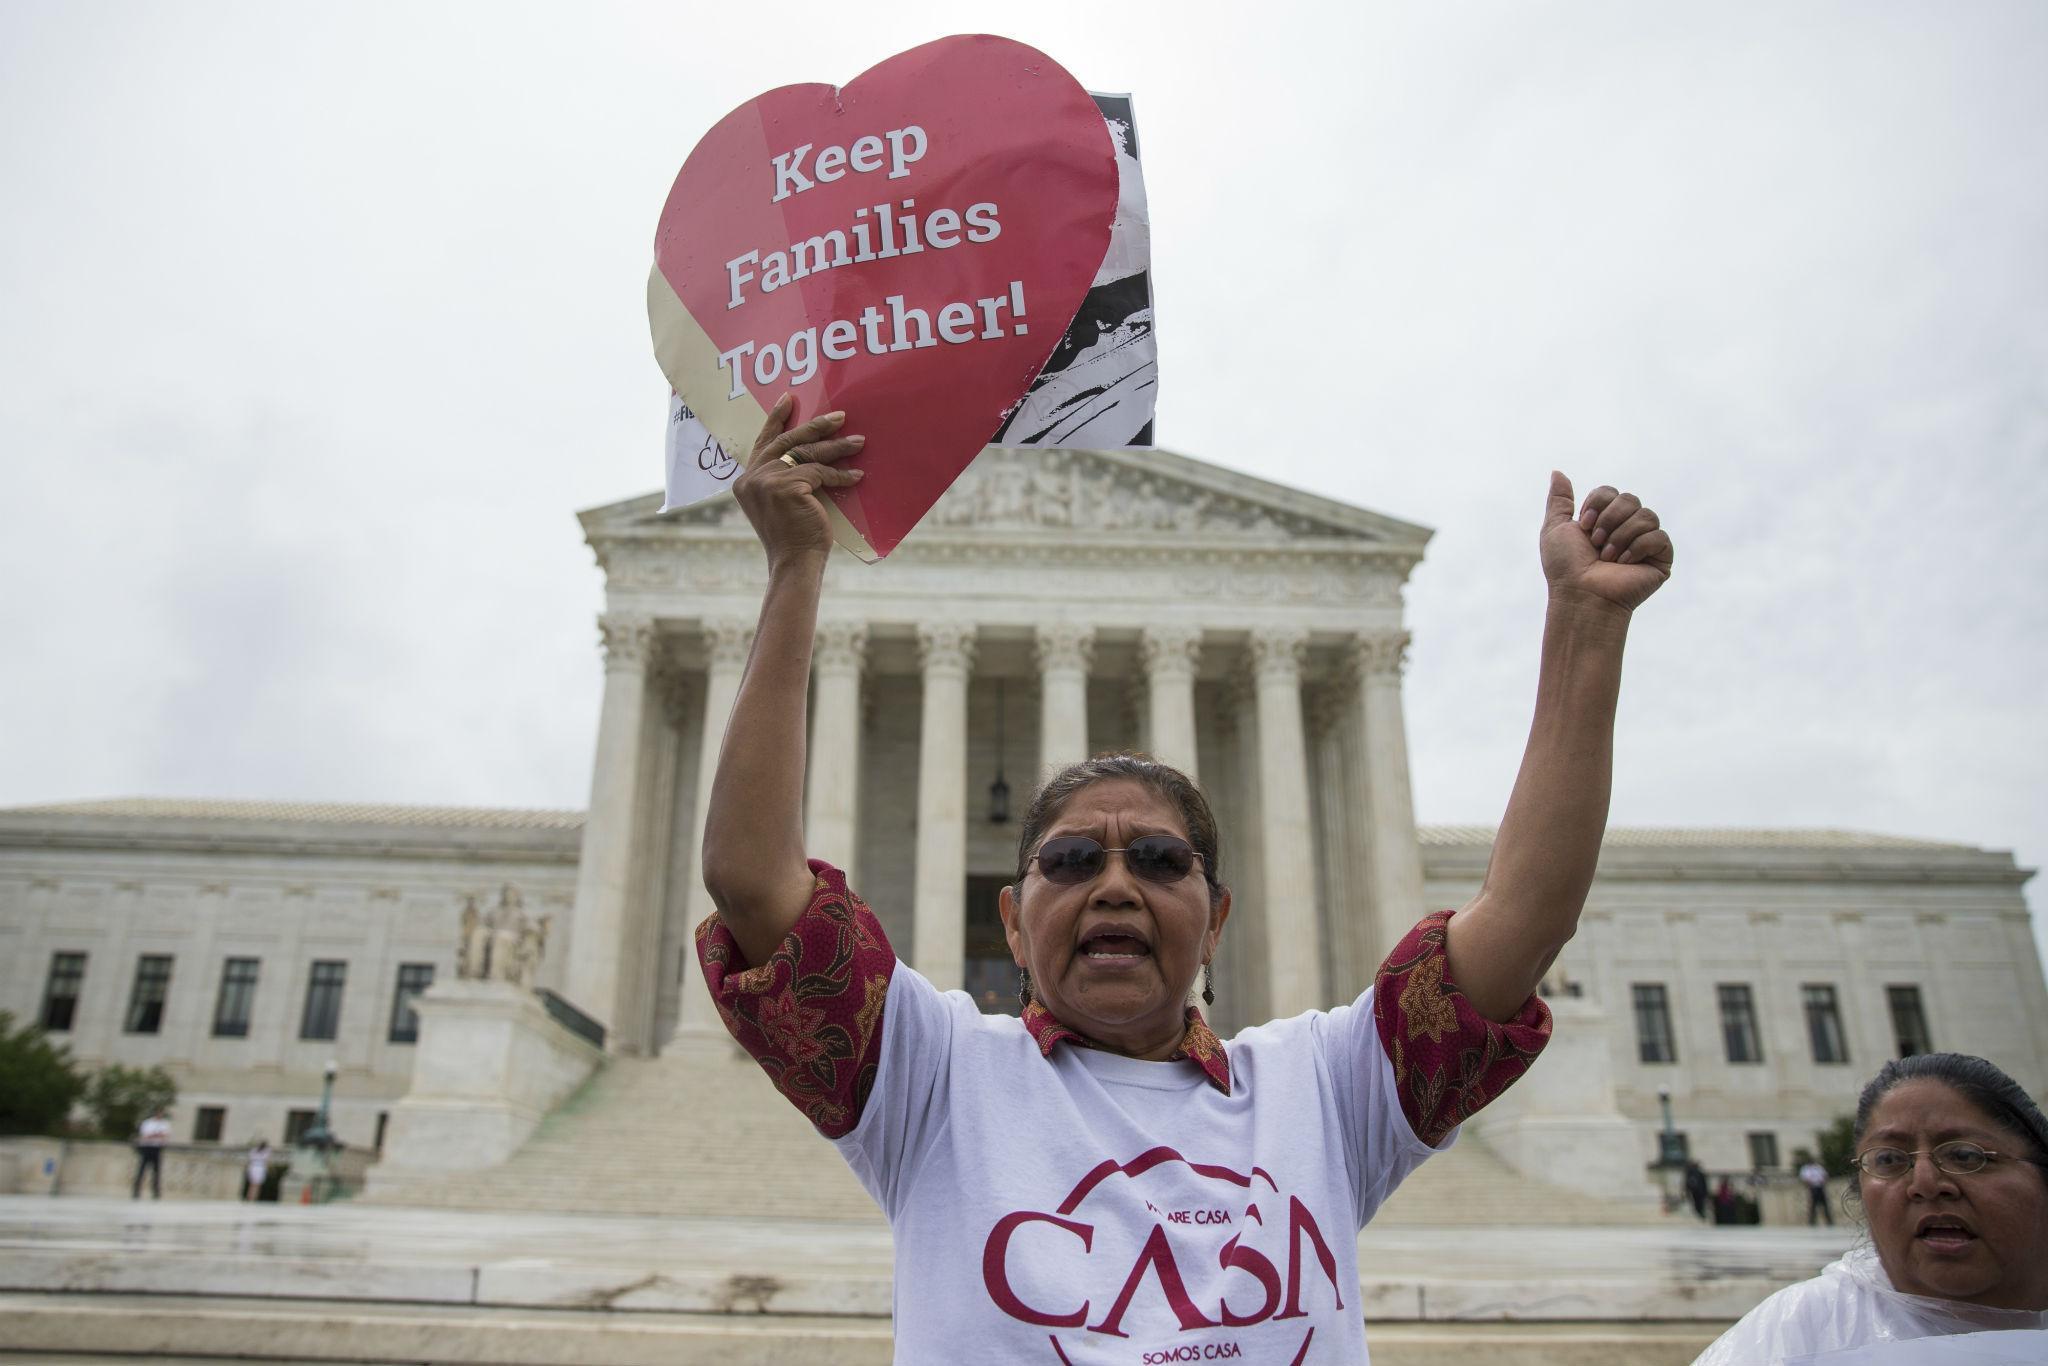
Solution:
M 604 1061 L 602 1049 L 510 983 L 434 983 L 414 1008 L 418 1057 L 371 1173 L 379 1198 L 401 1198 L 451 1171 L 496 1167 Z

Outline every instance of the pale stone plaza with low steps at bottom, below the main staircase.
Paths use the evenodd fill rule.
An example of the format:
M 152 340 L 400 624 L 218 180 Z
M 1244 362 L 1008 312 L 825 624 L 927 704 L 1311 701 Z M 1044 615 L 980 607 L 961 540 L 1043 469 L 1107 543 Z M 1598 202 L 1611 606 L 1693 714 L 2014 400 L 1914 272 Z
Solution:
M 1376 1362 L 1688 1362 L 1853 1237 L 1368 1229 L 1360 1303 Z M 0 1198 L 0 1343 L 31 1354 L 887 1362 L 889 1303 L 879 1223 Z

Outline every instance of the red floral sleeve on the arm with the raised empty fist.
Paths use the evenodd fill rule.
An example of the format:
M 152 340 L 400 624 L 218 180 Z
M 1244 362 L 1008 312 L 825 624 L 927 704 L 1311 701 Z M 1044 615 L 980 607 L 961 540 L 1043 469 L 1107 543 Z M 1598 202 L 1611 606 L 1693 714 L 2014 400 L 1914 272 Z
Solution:
M 1505 1024 L 1464 999 L 1444 954 L 1450 915 L 1423 915 L 1386 954 L 1372 985 L 1372 1016 L 1395 1065 L 1401 1112 L 1430 1147 L 1513 1085 L 1550 1042 L 1550 1008 L 1534 995 Z

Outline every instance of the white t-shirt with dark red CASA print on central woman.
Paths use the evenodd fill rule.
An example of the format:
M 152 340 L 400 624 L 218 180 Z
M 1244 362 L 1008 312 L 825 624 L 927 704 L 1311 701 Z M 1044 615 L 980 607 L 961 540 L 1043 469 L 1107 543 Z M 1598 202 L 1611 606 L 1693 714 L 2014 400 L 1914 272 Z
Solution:
M 1192 1061 L 1040 1057 L 895 967 L 874 1090 L 836 1147 L 895 1229 L 899 1362 L 1364 1362 L 1358 1231 L 1432 1151 L 1372 991 Z

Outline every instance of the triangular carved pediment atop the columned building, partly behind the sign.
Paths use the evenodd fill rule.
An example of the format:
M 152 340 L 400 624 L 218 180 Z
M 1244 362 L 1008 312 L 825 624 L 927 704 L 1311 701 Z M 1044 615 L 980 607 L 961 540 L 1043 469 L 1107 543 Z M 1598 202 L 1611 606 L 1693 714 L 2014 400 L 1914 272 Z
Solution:
M 731 496 L 657 516 L 659 496 L 582 514 L 592 537 L 633 526 L 739 526 Z M 1413 549 L 1430 528 L 1333 498 L 1241 475 L 1171 451 L 1040 451 L 989 446 L 918 524 L 924 537 L 963 532 L 1114 532 L 1217 541 L 1366 541 Z

